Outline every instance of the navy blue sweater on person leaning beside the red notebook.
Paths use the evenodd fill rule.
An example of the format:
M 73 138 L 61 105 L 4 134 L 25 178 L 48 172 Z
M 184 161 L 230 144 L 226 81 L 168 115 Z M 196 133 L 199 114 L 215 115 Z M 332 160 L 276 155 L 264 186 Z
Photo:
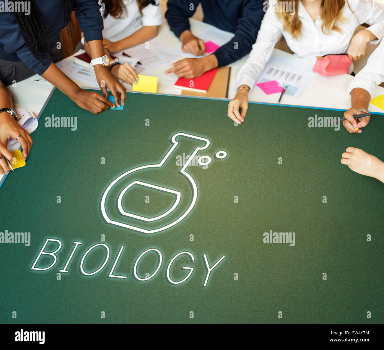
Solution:
M 264 0 L 169 0 L 166 18 L 177 37 L 184 30 L 189 30 L 188 18 L 193 16 L 199 3 L 203 8 L 204 22 L 235 33 L 232 40 L 215 52 L 219 67 L 248 54 L 255 44 L 264 17 Z

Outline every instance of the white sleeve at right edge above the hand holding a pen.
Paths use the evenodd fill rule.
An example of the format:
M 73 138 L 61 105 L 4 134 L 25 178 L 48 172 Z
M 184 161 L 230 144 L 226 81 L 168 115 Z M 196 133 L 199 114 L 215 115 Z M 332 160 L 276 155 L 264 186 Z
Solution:
M 373 99 L 376 97 L 376 85 L 382 82 L 384 82 L 384 40 L 381 40 L 380 45 L 369 56 L 365 67 L 351 81 L 348 93 L 350 94 L 353 89 L 360 87 L 367 90 Z

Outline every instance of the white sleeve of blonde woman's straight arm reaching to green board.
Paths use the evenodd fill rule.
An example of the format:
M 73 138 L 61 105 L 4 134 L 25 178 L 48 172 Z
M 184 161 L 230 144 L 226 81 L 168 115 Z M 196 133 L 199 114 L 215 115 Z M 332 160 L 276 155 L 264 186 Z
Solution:
M 265 13 L 256 42 L 252 46 L 252 51 L 238 72 L 236 89 L 243 84 L 248 85 L 251 89 L 253 88 L 265 64 L 271 58 L 273 48 L 283 30 L 283 24 L 278 20 L 275 12 L 271 11 L 273 2 L 273 0 L 269 0 L 270 10 Z

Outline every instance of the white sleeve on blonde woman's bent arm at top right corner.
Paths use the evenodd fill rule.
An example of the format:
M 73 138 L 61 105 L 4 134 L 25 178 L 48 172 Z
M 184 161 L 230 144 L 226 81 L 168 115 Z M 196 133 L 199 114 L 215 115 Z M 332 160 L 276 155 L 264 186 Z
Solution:
M 362 0 L 358 3 L 355 15 L 360 24 L 371 25 L 367 30 L 370 30 L 377 37 L 377 40 L 371 41 L 371 44 L 378 44 L 384 37 L 384 8 L 377 5 L 373 0 Z

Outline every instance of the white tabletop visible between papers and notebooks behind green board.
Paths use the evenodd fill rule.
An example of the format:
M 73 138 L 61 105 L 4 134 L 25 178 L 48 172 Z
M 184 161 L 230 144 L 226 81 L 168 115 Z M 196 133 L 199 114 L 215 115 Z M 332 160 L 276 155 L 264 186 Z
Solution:
M 377 2 L 381 2 L 384 5 L 384 0 L 379 0 Z M 202 32 L 202 30 L 209 27 L 208 24 L 200 21 L 191 20 L 190 22 L 191 30 L 197 36 L 199 36 L 199 33 Z M 170 31 L 167 23 L 163 23 L 160 28 L 159 35 L 156 37 L 156 39 L 172 49 L 180 47 L 179 39 L 177 39 L 174 33 Z M 298 62 L 301 60 L 291 54 L 276 49 L 274 51 L 274 55 L 286 57 Z M 243 59 L 238 60 L 237 62 L 230 65 L 232 67 L 228 96 L 230 99 L 232 99 L 234 96 L 237 73 L 246 59 L 247 57 L 243 57 Z M 170 67 L 170 64 L 166 64 L 153 70 L 146 70 L 143 73 L 146 75 L 159 77 L 159 94 L 180 95 L 181 90 L 175 89 L 173 86 L 177 80 L 177 76 L 175 74 L 164 74 L 164 72 Z M 33 75 L 32 77 L 23 80 L 22 82 L 18 82 L 16 87 L 12 87 L 12 85 L 8 86 L 8 90 L 12 95 L 14 107 L 33 111 L 36 116 L 39 116 L 53 90 L 53 85 L 48 82 L 36 82 L 36 79 L 41 79 L 41 77 L 37 74 Z M 281 104 L 324 107 L 332 109 L 348 109 L 350 107 L 351 101 L 350 96 L 347 93 L 347 89 L 352 79 L 353 77 L 348 74 L 338 75 L 336 77 L 323 77 L 319 74 L 316 74 L 299 99 L 293 99 L 285 96 L 283 97 Z M 80 86 L 87 86 L 83 81 L 74 81 Z M 132 85 L 126 83 L 124 83 L 124 85 L 128 90 L 132 90 Z M 95 86 L 92 84 L 89 84 L 88 87 L 95 88 Z M 380 94 L 384 94 L 384 88 L 377 87 L 376 95 Z M 262 90 L 259 89 L 253 89 L 249 95 L 250 101 L 266 103 L 276 103 L 278 97 L 279 96 L 276 96 L 276 94 L 265 95 Z M 369 106 L 369 110 L 372 112 L 382 112 L 381 109 L 373 105 Z M 40 125 L 40 127 L 42 126 Z M 15 146 L 16 145 L 18 144 L 15 144 Z M 0 177 L 0 184 L 1 183 L 2 177 Z

